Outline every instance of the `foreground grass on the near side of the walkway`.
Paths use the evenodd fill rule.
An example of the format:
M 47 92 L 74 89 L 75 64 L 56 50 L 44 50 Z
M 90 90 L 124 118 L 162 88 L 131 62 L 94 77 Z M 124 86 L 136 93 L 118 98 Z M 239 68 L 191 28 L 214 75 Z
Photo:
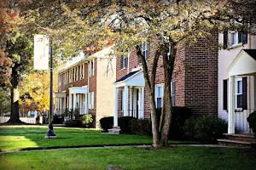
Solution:
M 33 150 L 0 154 L 0 169 L 254 169 L 252 150 L 208 147 Z

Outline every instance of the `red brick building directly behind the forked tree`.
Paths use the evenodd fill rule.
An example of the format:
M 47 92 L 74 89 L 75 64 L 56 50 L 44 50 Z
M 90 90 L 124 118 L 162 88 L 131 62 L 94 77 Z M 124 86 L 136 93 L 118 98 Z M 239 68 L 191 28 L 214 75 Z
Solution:
M 172 105 L 187 106 L 194 116 L 218 116 L 218 36 L 201 39 L 191 47 L 179 47 L 172 77 Z M 206 48 L 207 47 L 207 48 Z M 154 56 L 150 42 L 142 44 L 145 58 Z M 152 61 L 148 59 L 150 72 Z M 163 104 L 164 70 L 160 57 L 155 82 L 155 102 Z M 116 62 L 115 114 L 148 118 L 150 107 L 142 65 L 135 49 Z

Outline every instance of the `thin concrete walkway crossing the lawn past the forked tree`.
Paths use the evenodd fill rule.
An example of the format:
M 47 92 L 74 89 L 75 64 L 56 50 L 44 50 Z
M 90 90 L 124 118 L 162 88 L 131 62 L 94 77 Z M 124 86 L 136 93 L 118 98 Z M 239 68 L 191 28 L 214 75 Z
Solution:
M 219 144 L 170 144 L 170 147 L 179 147 L 179 146 L 195 146 L 195 147 L 214 147 L 214 148 L 240 148 L 248 149 L 236 146 L 225 146 Z M 139 147 L 139 148 L 150 148 L 152 145 L 122 145 L 122 146 L 91 146 L 91 147 L 70 147 L 70 148 L 58 148 L 58 149 L 42 149 L 42 148 L 33 148 L 32 150 L 18 150 L 18 151 L 6 151 L 0 152 L 0 154 L 7 153 L 19 153 L 19 152 L 28 152 L 28 151 L 49 151 L 49 150 L 89 150 L 89 149 L 109 149 L 109 148 L 129 148 L 129 147 Z

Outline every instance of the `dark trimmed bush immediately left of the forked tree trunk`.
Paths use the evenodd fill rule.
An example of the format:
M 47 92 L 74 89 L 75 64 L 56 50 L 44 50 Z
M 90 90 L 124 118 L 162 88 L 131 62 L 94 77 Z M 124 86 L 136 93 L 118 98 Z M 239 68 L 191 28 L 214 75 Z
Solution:
M 152 122 L 150 119 L 131 119 L 131 134 L 152 135 Z

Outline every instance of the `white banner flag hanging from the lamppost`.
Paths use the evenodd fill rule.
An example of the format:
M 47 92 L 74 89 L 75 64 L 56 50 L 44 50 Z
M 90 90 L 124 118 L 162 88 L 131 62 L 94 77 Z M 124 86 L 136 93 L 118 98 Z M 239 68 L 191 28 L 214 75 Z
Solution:
M 45 35 L 34 37 L 34 70 L 49 70 L 49 38 Z

